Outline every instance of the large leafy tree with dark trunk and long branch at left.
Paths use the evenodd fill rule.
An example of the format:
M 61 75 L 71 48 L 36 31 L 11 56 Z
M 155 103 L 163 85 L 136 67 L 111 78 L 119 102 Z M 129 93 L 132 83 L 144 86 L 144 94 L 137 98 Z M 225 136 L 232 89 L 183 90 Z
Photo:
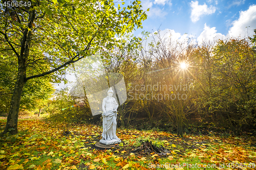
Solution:
M 32 0 L 18 7 L 5 6 L 6 2 L 1 2 L 0 51 L 10 51 L 17 58 L 18 70 L 3 133 L 17 133 L 26 82 L 44 76 L 59 82 L 68 65 L 110 50 L 118 41 L 116 35 L 131 32 L 135 26 L 142 28 L 141 21 L 146 19 L 140 1 L 122 9 L 120 5 L 116 9 L 112 0 Z

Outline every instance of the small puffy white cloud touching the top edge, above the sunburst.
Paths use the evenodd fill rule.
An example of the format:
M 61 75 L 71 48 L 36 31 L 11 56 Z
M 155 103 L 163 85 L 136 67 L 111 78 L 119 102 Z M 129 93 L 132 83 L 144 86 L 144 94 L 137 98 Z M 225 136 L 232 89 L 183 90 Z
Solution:
M 190 7 L 191 7 L 190 18 L 192 22 L 198 21 L 202 15 L 209 15 L 209 14 L 215 13 L 216 11 L 215 7 L 212 7 L 212 6 L 208 7 L 206 4 L 198 5 L 198 1 L 195 1 L 195 2 L 191 1 Z

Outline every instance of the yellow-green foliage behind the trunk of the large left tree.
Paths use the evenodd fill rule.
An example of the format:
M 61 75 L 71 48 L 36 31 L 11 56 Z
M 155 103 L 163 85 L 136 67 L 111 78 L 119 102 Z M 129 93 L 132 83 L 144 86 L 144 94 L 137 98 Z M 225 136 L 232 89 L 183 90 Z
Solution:
M 10 56 L 9 53 L 1 55 L 0 60 L 0 114 L 6 114 L 10 108 L 11 94 L 17 79 L 18 68 L 15 56 Z M 49 77 L 30 79 L 24 86 L 20 109 L 39 109 L 40 106 L 45 105 L 54 91 L 53 85 L 49 81 L 51 81 Z

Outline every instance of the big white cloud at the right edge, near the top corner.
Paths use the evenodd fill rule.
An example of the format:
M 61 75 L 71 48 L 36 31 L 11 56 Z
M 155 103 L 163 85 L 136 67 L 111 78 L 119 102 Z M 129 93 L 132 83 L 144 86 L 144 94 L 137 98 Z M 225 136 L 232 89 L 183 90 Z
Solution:
M 247 33 L 247 28 L 248 33 Z M 252 5 L 246 11 L 241 11 L 238 20 L 233 21 L 232 27 L 229 29 L 227 37 L 247 37 L 254 34 L 256 28 L 256 5 Z

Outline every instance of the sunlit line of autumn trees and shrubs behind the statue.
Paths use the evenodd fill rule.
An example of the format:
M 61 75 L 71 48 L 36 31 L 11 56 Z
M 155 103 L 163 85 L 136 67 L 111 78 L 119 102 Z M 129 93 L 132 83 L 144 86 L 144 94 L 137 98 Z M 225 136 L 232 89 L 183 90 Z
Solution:
M 124 76 L 129 94 L 119 107 L 119 126 L 169 130 L 181 136 L 196 131 L 194 126 L 209 131 L 230 130 L 236 135 L 245 130 L 253 132 L 256 128 L 255 35 L 254 39 L 229 38 L 196 44 L 191 39 L 178 42 L 172 37 L 162 38 L 156 32 L 149 45 L 143 46 L 142 40 L 137 48 L 131 48 L 129 41 L 123 43 L 115 55 L 111 53 L 111 62 L 105 63 L 106 72 Z M 187 67 L 182 68 L 180 63 L 186 63 Z M 156 84 L 161 89 L 150 88 Z M 165 85 L 173 87 L 169 89 Z M 101 125 L 101 116 L 92 116 L 86 97 L 72 97 L 63 92 L 59 91 L 49 103 L 51 107 L 58 106 L 49 110 L 52 120 L 66 117 L 63 121 Z M 181 94 L 183 99 L 186 96 L 185 100 Z M 73 104 L 78 105 L 70 107 Z M 69 108 L 61 111 L 60 108 L 66 107 Z

